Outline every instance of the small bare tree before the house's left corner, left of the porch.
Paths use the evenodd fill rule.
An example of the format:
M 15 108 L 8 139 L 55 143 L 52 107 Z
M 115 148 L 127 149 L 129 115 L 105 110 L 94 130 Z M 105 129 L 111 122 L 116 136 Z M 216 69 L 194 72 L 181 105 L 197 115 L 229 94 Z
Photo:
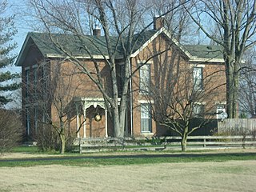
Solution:
M 34 98 L 30 101 L 34 105 L 34 131 L 38 134 L 38 141 L 42 142 L 42 149 L 43 142 L 50 142 L 50 138 L 57 134 L 58 141 L 53 142 L 53 145 L 59 146 L 61 154 L 65 153 L 66 141 L 75 137 L 70 134 L 70 122 L 76 118 L 72 102 L 82 84 L 78 82 L 77 69 L 66 62 L 42 62 L 34 69 L 34 83 L 29 93 L 32 96 L 30 98 Z M 53 129 L 47 130 L 47 126 Z M 79 130 L 76 131 L 78 133 Z

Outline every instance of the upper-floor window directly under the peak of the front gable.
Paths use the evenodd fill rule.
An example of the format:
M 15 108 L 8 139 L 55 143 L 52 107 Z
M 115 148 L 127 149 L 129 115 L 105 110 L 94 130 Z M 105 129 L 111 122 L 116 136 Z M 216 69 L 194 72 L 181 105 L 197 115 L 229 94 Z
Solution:
M 144 64 L 139 70 L 139 88 L 142 94 L 150 93 L 150 64 Z

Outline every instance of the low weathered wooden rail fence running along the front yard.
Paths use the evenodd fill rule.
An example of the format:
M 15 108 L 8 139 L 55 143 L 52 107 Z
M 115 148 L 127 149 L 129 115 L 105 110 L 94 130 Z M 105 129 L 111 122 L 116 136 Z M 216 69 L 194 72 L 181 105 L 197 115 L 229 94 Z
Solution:
M 104 150 L 171 150 L 181 144 L 181 137 L 159 138 L 80 138 L 79 152 Z M 189 136 L 187 146 L 256 146 L 254 135 L 235 136 Z

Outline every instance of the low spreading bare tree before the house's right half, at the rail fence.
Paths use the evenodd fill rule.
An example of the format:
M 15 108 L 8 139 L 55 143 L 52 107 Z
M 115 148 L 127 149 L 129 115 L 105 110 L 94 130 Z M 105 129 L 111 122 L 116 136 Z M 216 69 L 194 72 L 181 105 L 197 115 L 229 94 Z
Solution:
M 216 103 L 225 101 L 225 69 L 220 64 L 202 68 L 200 63 L 188 63 L 174 47 L 171 53 L 166 59 L 154 58 L 154 70 L 159 71 L 146 98 L 154 120 L 180 135 L 185 151 L 187 137 L 215 118 Z

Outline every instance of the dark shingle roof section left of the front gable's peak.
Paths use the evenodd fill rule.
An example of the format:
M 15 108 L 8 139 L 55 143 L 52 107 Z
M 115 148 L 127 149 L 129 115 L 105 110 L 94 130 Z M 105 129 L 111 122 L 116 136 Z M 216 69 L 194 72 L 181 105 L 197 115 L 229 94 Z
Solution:
M 132 42 L 133 52 L 138 50 L 144 43 L 146 43 L 157 30 L 147 30 L 142 34 L 135 34 Z M 106 39 L 104 36 L 93 36 L 93 35 L 85 35 L 82 38 L 78 38 L 71 34 L 51 34 L 51 38 L 58 46 L 55 46 L 54 43 L 50 40 L 49 34 L 45 33 L 29 33 L 30 37 L 33 39 L 34 43 L 38 46 L 38 49 L 42 52 L 42 54 L 58 54 L 62 55 L 62 50 L 59 49 L 58 46 L 63 47 L 65 50 L 69 51 L 70 54 L 73 55 L 82 55 L 89 56 L 89 53 L 86 52 L 90 50 L 90 54 L 92 55 L 108 55 L 108 49 L 106 46 Z M 125 39 L 126 40 L 126 39 Z M 118 42 L 118 38 L 110 37 L 110 43 L 115 51 L 117 56 L 122 56 L 122 46 L 121 43 Z

